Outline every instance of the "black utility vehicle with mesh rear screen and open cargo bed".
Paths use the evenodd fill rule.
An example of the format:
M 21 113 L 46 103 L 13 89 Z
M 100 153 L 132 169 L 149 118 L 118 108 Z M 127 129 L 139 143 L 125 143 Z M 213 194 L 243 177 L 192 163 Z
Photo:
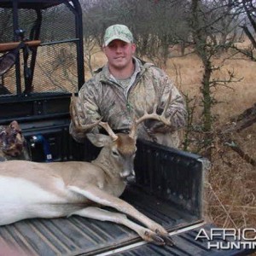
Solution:
M 69 104 L 84 84 L 82 9 L 78 0 L 1 0 L 0 52 L 15 56 L 1 76 L 0 125 L 19 122 L 33 161 L 90 161 L 99 152 L 69 135 Z M 28 35 L 26 37 L 26 35 Z M 15 45 L 15 46 L 14 46 Z M 200 155 L 137 141 L 136 183 L 121 198 L 162 224 L 174 245 L 142 241 L 121 226 L 88 218 L 26 219 L 0 227 L 0 241 L 26 255 L 246 255 L 230 249 L 231 236 L 215 238 L 204 217 L 209 161 Z M 20 191 L 22 193 L 22 191 Z M 1 207 L 1 206 L 0 206 Z M 218 230 L 218 229 L 217 229 Z M 220 232 L 220 231 L 219 231 Z M 0 248 L 0 255 L 1 248 Z

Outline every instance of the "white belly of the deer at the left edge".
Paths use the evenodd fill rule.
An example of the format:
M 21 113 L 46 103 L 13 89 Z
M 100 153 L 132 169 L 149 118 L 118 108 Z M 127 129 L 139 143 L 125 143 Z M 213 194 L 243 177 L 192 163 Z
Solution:
M 67 204 L 72 195 L 67 195 L 61 181 L 56 181 L 55 185 L 58 195 L 25 179 L 0 176 L 0 225 L 24 218 L 61 217 L 76 207 L 81 208 L 81 204 Z

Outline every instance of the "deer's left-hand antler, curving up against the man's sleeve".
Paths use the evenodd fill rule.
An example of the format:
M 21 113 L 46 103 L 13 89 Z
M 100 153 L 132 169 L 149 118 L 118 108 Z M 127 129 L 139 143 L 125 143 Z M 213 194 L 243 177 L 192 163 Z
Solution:
M 70 115 L 73 119 L 73 123 L 78 131 L 88 131 L 93 127 L 95 127 L 96 125 L 101 125 L 102 128 L 104 128 L 108 132 L 108 135 L 113 139 L 113 141 L 115 141 L 118 138 L 117 135 L 111 129 L 111 127 L 108 125 L 108 123 L 102 122 L 102 119 L 99 119 L 90 125 L 82 125 L 79 118 L 78 100 L 77 100 L 77 97 L 74 96 L 74 94 L 72 94 L 71 96 L 69 110 L 70 110 Z

